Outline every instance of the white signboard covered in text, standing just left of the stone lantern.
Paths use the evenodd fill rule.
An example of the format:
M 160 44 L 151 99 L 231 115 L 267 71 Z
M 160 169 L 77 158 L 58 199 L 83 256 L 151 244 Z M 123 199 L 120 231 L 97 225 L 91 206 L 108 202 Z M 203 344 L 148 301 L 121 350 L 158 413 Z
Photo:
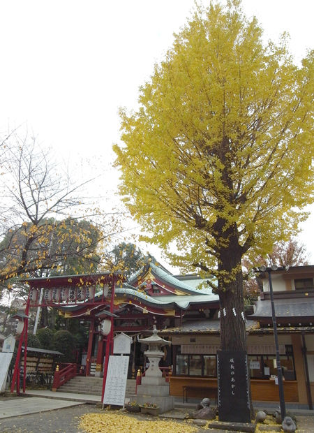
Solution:
M 103 404 L 124 406 L 128 361 L 128 356 L 110 356 Z

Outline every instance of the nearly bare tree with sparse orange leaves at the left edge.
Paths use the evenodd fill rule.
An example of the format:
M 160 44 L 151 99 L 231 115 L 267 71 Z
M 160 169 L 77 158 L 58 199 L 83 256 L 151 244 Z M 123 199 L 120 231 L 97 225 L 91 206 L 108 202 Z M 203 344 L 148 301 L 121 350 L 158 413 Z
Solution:
M 107 263 L 104 242 L 119 232 L 117 216 L 92 210 L 86 182 L 72 182 L 35 138 L 16 134 L 0 146 L 0 282 L 51 270 L 88 270 Z M 1 159 L 3 161 L 3 159 Z M 84 208 L 89 205 L 89 214 Z M 76 267 L 75 267 L 76 266 Z

